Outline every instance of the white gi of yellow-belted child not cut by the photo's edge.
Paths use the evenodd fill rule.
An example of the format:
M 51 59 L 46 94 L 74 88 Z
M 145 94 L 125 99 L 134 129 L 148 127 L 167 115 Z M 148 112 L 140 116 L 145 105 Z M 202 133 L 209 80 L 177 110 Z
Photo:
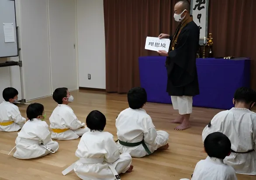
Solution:
M 85 123 L 81 123 L 77 119 L 74 111 L 65 104 L 59 104 L 52 112 L 50 120 L 50 128 L 52 129 L 69 129 L 63 133 L 52 132 L 52 139 L 55 140 L 74 140 L 83 136 L 84 133 L 89 131 L 85 127 Z M 85 128 L 81 128 L 85 127 Z

